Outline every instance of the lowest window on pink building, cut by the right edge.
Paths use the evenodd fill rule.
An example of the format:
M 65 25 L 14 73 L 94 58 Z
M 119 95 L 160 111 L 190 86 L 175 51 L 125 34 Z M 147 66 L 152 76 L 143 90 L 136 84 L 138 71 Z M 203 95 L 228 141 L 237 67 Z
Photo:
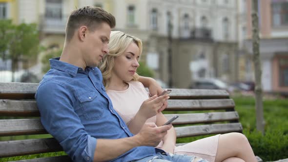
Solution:
M 279 84 L 288 86 L 288 58 L 279 59 Z

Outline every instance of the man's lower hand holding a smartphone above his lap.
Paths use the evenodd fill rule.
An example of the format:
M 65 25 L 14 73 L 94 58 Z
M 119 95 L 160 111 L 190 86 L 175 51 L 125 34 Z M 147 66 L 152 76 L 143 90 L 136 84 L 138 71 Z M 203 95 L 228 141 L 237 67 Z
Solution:
M 140 132 L 134 136 L 139 146 L 157 146 L 167 134 L 171 124 L 156 127 L 154 122 L 147 122 L 143 125 Z

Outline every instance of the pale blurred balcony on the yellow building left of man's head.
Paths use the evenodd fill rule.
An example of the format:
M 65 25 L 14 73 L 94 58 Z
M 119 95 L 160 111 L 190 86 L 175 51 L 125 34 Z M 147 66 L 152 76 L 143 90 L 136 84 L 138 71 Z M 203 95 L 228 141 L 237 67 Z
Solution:
M 68 15 L 61 16 L 61 18 L 48 18 L 45 15 L 40 16 L 40 31 L 49 34 L 65 34 L 65 26 Z

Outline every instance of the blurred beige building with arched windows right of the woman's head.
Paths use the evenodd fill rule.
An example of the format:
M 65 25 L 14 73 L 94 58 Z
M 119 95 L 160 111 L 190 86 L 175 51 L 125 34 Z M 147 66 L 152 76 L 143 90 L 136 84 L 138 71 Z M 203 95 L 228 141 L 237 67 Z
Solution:
M 172 75 L 172 85 L 180 88 L 199 78 L 237 80 L 236 1 L 114 0 L 114 4 L 116 30 L 144 41 L 142 60 L 156 78 L 168 83 Z

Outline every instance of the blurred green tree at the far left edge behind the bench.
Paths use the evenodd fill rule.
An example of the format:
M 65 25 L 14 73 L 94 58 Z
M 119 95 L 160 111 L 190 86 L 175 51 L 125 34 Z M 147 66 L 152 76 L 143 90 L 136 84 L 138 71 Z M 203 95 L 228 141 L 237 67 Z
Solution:
M 3 25 L 2 25 L 3 24 Z M 0 20 L 0 52 L 12 61 L 12 82 L 20 61 L 27 61 L 39 53 L 39 32 L 34 23 L 19 25 L 11 20 Z

